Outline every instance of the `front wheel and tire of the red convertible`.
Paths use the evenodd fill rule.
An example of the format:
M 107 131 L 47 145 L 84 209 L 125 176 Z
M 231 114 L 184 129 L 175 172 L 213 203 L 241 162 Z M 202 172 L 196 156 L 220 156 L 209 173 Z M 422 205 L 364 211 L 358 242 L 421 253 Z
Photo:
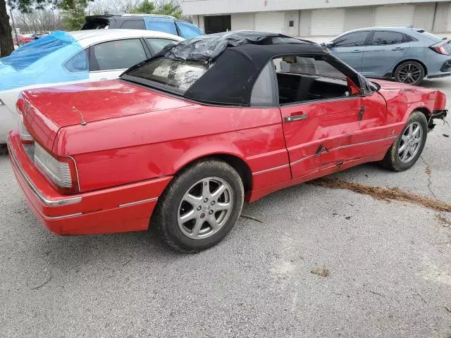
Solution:
M 418 131 L 416 131 L 416 127 L 419 127 Z M 409 137 L 409 135 L 411 136 Z M 421 111 L 414 111 L 407 120 L 400 136 L 390 146 L 381 161 L 383 167 L 393 171 L 404 171 L 412 167 L 421 156 L 427 135 L 428 122 L 426 116 Z M 404 147 L 404 150 L 402 150 L 402 147 Z

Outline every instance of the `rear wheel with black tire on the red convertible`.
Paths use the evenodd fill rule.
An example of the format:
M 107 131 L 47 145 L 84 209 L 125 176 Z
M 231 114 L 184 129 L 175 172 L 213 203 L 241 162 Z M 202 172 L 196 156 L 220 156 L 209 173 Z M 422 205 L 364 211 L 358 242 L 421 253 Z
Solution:
M 218 192 L 219 187 L 223 191 Z M 241 177 L 230 165 L 199 161 L 175 175 L 166 187 L 152 225 L 176 251 L 208 249 L 221 242 L 237 222 L 244 194 Z

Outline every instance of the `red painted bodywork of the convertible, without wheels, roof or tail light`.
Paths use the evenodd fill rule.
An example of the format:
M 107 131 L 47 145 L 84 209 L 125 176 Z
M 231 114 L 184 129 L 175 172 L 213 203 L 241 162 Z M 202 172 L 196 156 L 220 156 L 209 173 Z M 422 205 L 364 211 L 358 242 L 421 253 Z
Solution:
M 280 108 L 204 106 L 120 80 L 29 91 L 24 95 L 25 126 L 55 156 L 75 159 L 80 184 L 75 196 L 82 196 L 82 202 L 49 207 L 36 198 L 20 168 L 47 199 L 63 195 L 27 158 L 17 132 L 11 134 L 10 146 L 20 168 L 13 168 L 35 213 L 54 232 L 144 230 L 154 199 L 178 170 L 198 158 L 227 155 L 245 163 L 252 175 L 247 199 L 254 201 L 380 161 L 414 109 L 431 113 L 445 108 L 443 94 L 433 89 L 374 82 L 381 90 L 371 96 Z M 74 105 L 87 125 L 80 124 Z M 283 120 L 299 114 L 307 118 Z M 142 203 L 128 205 L 135 201 Z M 73 213 L 82 215 L 54 218 Z

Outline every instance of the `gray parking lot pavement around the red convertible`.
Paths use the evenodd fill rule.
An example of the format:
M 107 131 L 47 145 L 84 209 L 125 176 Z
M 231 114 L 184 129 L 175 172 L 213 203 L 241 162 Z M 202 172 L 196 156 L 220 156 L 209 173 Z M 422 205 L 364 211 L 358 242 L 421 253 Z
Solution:
M 424 85 L 451 101 L 451 80 Z M 404 173 L 334 177 L 451 204 L 443 134 Z M 57 237 L 6 156 L 0 173 L 0 337 L 451 337 L 448 213 L 301 184 L 245 206 L 262 223 L 240 218 L 218 246 L 183 255 L 152 231 Z

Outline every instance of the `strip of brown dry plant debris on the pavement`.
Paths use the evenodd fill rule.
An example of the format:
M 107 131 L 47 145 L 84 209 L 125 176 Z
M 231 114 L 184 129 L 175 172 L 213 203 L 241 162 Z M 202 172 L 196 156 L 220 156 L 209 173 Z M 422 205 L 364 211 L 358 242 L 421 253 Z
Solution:
M 411 192 L 403 192 L 398 188 L 381 188 L 370 187 L 365 184 L 354 182 L 347 182 L 339 178 L 322 177 L 314 181 L 308 182 L 319 187 L 326 187 L 330 189 L 347 189 L 358 194 L 365 194 L 372 196 L 374 199 L 382 201 L 402 201 L 424 206 L 435 211 L 451 212 L 451 204 L 447 204 L 437 199 L 429 199 L 428 197 L 412 194 Z

